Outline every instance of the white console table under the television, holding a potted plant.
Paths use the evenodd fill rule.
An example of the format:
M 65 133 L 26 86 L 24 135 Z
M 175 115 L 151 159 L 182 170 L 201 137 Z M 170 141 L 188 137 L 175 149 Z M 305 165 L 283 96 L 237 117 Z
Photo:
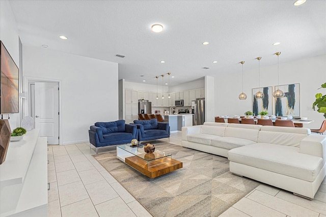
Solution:
M 47 138 L 39 130 L 10 142 L 0 165 L 0 216 L 47 216 Z

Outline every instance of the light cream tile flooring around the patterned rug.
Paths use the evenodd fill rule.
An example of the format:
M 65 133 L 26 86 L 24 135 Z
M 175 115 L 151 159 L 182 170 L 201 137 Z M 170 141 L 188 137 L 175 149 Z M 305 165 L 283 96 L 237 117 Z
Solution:
M 181 145 L 181 132 L 172 133 L 170 142 Z M 151 216 L 92 154 L 89 143 L 48 146 L 48 216 Z M 220 216 L 326 217 L 326 179 L 311 201 L 261 184 Z

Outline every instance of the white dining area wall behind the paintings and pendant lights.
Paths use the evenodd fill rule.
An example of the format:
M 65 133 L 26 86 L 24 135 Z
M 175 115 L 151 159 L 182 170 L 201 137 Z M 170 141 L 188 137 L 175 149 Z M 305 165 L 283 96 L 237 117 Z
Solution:
M 311 107 L 317 92 L 326 94 L 325 89 L 317 90 L 322 83 L 326 82 L 326 55 L 299 59 L 288 63 L 282 63 L 281 56 L 279 58 L 280 85 L 300 83 L 300 114 L 302 117 L 314 120 L 313 123 L 304 125 L 304 127 L 319 128 L 324 119 L 323 115 L 313 111 Z M 242 90 L 240 66 L 238 73 L 222 73 L 215 77 L 215 116 L 226 114 L 242 115 L 244 111 L 252 111 L 252 88 L 258 87 L 258 66 L 257 70 L 254 71 L 246 71 L 245 68 L 246 66 L 243 65 L 243 92 L 247 94 L 247 100 L 238 99 L 238 95 Z M 262 58 L 260 64 L 260 87 L 276 85 L 278 85 L 277 65 L 264 67 Z M 275 106 L 274 104 L 273 107 Z M 273 112 L 275 112 L 275 109 L 273 109 Z

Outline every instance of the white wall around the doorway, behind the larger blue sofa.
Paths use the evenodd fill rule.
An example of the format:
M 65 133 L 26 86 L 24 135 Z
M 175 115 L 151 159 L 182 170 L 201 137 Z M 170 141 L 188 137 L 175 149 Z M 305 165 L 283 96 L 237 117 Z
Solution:
M 61 80 L 63 144 L 89 141 L 95 122 L 119 119 L 117 63 L 24 46 L 23 66 L 24 76 Z

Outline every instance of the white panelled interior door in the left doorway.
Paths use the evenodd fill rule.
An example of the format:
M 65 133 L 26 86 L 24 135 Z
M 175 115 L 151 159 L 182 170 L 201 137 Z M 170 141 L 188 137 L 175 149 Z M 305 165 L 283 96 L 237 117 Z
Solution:
M 35 128 L 48 144 L 59 144 L 59 84 L 35 82 Z

